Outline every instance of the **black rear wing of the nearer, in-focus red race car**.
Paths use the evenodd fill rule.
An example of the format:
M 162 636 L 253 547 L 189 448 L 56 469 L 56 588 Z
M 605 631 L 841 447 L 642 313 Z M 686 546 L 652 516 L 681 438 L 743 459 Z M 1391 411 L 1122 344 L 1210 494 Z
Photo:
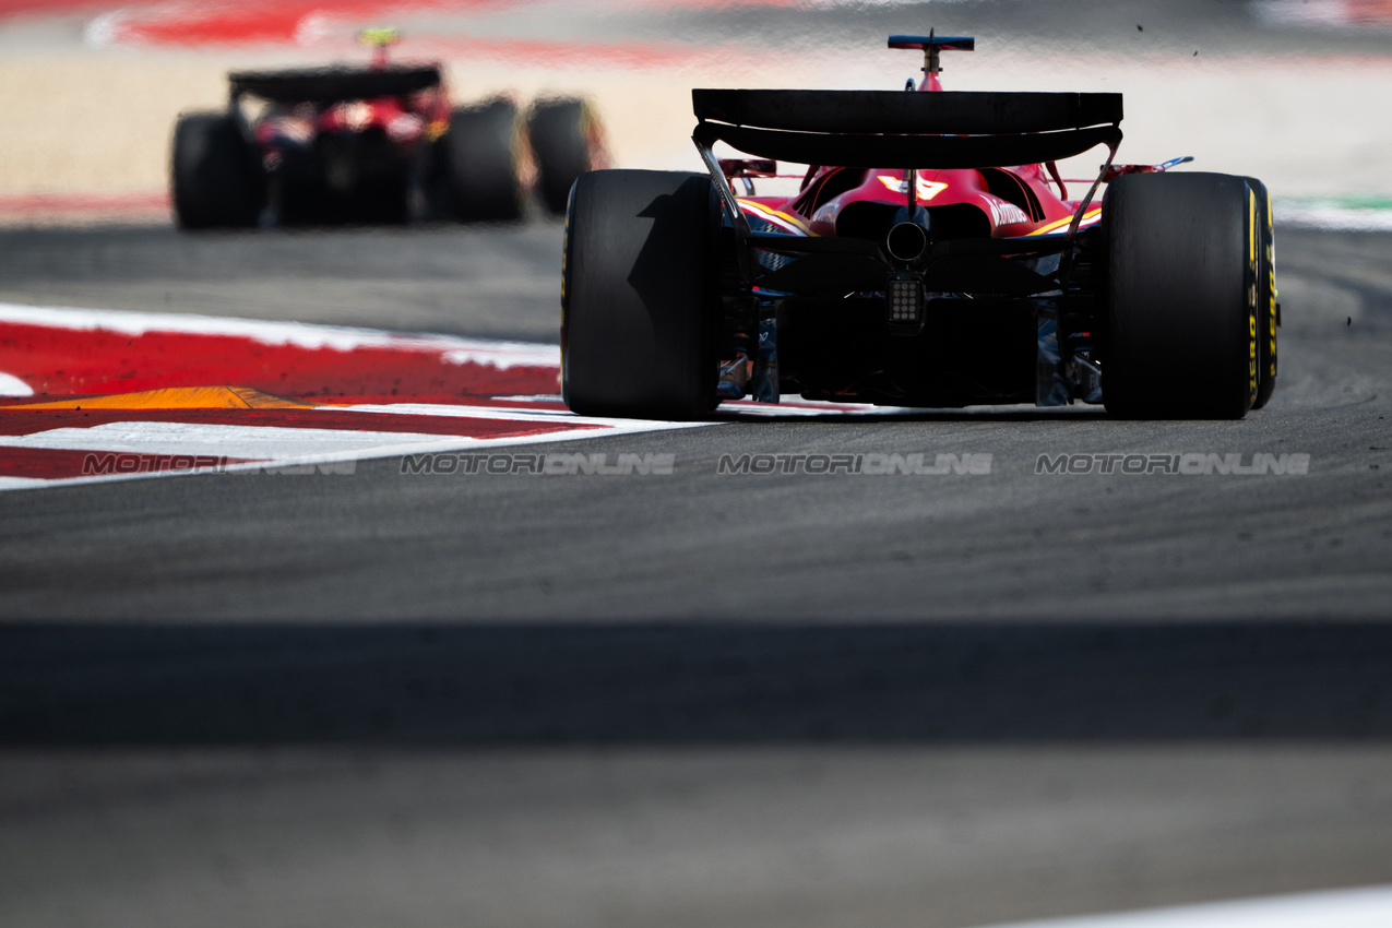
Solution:
M 1121 142 L 1121 93 L 692 90 L 702 149 L 860 168 L 1005 167 Z

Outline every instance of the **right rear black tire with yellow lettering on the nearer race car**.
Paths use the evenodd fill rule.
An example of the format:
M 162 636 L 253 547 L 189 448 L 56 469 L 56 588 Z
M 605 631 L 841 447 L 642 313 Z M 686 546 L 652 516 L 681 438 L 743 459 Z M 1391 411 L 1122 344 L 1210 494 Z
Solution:
M 1102 200 L 1102 402 L 1240 419 L 1257 399 L 1257 206 L 1240 177 L 1129 174 Z

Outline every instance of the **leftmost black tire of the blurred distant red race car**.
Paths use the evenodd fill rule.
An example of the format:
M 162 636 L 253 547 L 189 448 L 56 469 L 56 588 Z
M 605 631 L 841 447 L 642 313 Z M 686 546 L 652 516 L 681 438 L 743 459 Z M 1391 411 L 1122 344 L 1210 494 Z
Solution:
M 226 113 L 178 118 L 170 186 L 174 216 L 182 228 L 255 225 L 266 199 L 256 153 L 238 120 Z

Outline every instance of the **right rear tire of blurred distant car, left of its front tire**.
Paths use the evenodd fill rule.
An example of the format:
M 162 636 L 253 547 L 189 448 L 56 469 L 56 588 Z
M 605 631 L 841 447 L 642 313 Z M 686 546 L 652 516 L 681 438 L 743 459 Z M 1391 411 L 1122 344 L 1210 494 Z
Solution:
M 461 221 L 522 218 L 525 191 L 519 171 L 528 152 L 511 100 L 455 110 L 447 147 L 455 216 Z

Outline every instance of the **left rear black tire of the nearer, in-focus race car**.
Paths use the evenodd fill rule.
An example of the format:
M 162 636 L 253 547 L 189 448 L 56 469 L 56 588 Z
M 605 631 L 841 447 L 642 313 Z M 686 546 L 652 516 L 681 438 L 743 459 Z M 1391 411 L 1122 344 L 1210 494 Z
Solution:
M 704 174 L 592 171 L 571 191 L 561 390 L 585 416 L 715 406 L 720 202 Z

